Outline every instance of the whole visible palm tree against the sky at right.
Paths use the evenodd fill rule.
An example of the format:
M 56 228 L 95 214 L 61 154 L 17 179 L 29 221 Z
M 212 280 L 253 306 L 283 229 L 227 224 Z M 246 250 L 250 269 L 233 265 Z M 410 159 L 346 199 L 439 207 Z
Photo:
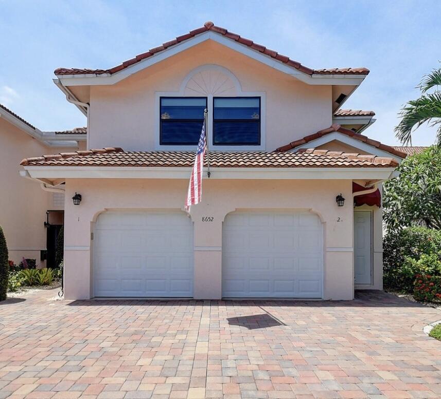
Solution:
M 412 145 L 412 130 L 423 123 L 438 125 L 437 145 L 441 145 L 441 66 L 424 75 L 419 86 L 421 97 L 409 101 L 400 111 L 401 121 L 395 128 L 396 137 L 404 144 Z M 432 93 L 428 91 L 432 88 Z

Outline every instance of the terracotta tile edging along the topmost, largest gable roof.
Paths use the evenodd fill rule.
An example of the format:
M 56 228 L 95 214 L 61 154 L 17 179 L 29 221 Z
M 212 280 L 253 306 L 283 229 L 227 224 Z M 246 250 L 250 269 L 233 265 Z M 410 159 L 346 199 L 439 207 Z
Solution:
M 312 74 L 361 74 L 361 75 L 367 75 L 369 73 L 369 70 L 366 68 L 332 68 L 332 69 L 311 69 L 308 68 L 301 63 L 291 60 L 288 56 L 282 55 L 277 53 L 277 51 L 270 50 L 266 48 L 265 46 L 262 46 L 260 44 L 254 43 L 252 40 L 245 39 L 244 37 L 241 37 L 240 35 L 230 32 L 224 28 L 221 28 L 219 26 L 216 26 L 213 24 L 213 22 L 206 22 L 203 27 L 195 29 L 190 31 L 189 33 L 186 33 L 182 36 L 178 36 L 173 40 L 170 40 L 169 42 L 163 43 L 161 46 L 151 48 L 149 51 L 144 52 L 142 54 L 136 55 L 131 60 L 125 61 L 122 64 L 119 64 L 113 68 L 110 69 L 83 69 L 83 68 L 58 68 L 54 71 L 56 75 L 76 75 L 76 74 L 103 74 L 103 73 L 116 73 L 119 72 L 122 69 L 127 68 L 130 65 L 136 64 L 139 61 L 145 60 L 146 58 L 151 57 L 153 54 L 156 54 L 160 51 L 164 51 L 170 46 L 173 46 L 175 44 L 181 43 L 185 40 L 191 39 L 191 37 L 194 37 L 200 33 L 204 33 L 207 31 L 212 31 L 216 33 L 220 33 L 223 36 L 227 37 L 228 39 L 234 40 L 235 42 L 241 43 L 245 46 L 251 47 L 252 49 L 256 51 L 260 51 L 263 54 L 266 54 L 284 64 L 287 64 L 291 67 L 294 67 L 295 69 L 298 69 L 299 71 L 302 71 L 304 73 L 307 73 L 308 75 Z

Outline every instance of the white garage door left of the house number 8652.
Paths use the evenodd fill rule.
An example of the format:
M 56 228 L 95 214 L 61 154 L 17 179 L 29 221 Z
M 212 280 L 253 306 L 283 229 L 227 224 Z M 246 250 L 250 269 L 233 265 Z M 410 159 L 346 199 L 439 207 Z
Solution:
M 94 296 L 192 297 L 193 226 L 183 212 L 105 212 L 94 230 Z

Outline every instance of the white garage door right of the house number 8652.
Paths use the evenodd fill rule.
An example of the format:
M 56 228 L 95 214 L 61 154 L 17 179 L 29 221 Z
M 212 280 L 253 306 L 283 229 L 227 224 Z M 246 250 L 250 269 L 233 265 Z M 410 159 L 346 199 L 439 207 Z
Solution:
M 307 212 L 234 212 L 222 227 L 222 296 L 321 298 L 323 239 Z

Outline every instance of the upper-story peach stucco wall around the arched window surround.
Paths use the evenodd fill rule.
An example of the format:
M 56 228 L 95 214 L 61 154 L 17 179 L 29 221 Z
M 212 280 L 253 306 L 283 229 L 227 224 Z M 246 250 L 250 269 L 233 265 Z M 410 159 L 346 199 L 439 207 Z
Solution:
M 111 86 L 91 87 L 89 146 L 155 149 L 155 92 L 178 91 L 201 65 L 230 70 L 242 91 L 264 92 L 266 149 L 285 145 L 332 124 L 331 86 L 307 85 L 213 41 L 203 42 Z M 200 94 L 199 94 L 200 95 Z

